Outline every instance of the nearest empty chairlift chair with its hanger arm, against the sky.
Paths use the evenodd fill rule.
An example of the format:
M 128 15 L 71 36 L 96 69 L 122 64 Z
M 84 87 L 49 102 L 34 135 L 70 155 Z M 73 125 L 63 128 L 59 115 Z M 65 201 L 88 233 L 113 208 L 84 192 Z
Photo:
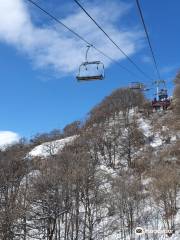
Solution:
M 85 62 L 79 66 L 79 73 L 76 76 L 78 81 L 103 80 L 105 78 L 104 64 L 101 61 L 88 61 L 87 59 L 90 47 L 91 46 L 87 46 Z M 96 71 L 97 74 L 83 74 L 84 72 L 88 72 L 90 67 Z

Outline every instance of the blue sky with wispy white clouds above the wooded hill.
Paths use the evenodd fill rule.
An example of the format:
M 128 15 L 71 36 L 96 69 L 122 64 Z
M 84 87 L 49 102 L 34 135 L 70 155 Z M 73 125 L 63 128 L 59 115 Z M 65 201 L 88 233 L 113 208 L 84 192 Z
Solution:
M 118 65 L 90 51 L 91 59 L 105 63 L 106 79 L 78 83 L 78 65 L 86 45 L 58 26 L 26 0 L 0 1 L 0 136 L 16 137 L 63 128 L 86 117 L 89 110 L 114 89 L 132 81 L 151 81 L 112 46 L 73 0 L 35 0 L 69 27 L 136 73 L 131 76 Z M 141 0 L 150 38 L 163 79 L 172 94 L 172 80 L 179 68 L 179 0 Z M 133 0 L 81 0 L 91 15 L 147 74 L 156 79 L 144 32 Z M 153 92 L 148 94 L 153 96 Z M 4 135 L 3 135 L 4 136 Z M 13 136 L 14 137 L 14 136 Z

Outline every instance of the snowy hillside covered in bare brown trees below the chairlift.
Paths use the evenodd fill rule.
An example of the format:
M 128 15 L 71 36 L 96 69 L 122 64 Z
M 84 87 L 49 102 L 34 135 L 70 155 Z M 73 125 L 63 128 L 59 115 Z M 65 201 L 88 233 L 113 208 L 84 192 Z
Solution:
M 118 89 L 65 138 L 1 152 L 1 239 L 180 239 L 178 116 L 147 105 Z

